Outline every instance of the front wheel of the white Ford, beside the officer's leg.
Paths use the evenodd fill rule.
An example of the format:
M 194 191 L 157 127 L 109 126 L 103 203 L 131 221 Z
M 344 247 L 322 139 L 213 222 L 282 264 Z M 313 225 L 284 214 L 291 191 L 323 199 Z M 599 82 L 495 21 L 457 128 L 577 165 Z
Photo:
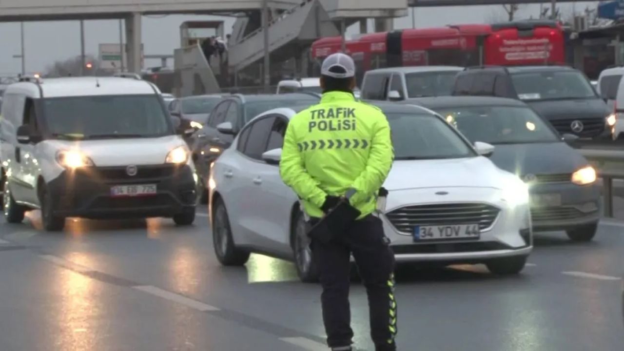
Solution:
M 318 267 L 314 262 L 305 217 L 301 212 L 297 212 L 293 222 L 293 253 L 299 279 L 305 283 L 318 282 Z

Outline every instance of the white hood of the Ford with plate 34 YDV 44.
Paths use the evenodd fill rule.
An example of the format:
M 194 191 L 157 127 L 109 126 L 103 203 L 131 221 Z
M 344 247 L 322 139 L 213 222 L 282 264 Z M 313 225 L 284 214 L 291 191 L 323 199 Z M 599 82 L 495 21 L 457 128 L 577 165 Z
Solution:
M 485 157 L 394 161 L 384 187 L 405 190 L 429 187 L 487 187 L 502 189 L 505 177 Z

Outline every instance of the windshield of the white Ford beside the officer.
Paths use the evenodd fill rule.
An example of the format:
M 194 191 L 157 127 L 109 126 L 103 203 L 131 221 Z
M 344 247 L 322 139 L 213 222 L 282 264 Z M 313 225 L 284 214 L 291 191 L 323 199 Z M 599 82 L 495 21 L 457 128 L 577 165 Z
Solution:
M 439 118 L 388 113 L 396 160 L 457 159 L 476 156 L 459 134 Z

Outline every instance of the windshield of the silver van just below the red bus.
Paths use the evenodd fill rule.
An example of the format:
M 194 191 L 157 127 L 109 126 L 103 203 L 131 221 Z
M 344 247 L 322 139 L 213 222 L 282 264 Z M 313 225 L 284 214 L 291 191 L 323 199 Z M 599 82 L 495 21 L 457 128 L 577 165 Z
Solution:
M 405 75 L 407 96 L 450 96 L 456 75 L 456 71 L 408 73 Z

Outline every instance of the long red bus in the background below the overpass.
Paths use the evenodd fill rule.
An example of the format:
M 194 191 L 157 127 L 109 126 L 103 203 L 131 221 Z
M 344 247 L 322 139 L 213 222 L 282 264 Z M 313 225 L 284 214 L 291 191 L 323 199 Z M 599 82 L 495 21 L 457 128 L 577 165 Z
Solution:
M 529 20 L 364 34 L 346 42 L 346 53 L 358 66 L 359 84 L 365 71 L 383 67 L 565 64 L 563 42 L 558 22 Z M 341 37 L 312 44 L 314 76 L 320 62 L 341 47 Z

